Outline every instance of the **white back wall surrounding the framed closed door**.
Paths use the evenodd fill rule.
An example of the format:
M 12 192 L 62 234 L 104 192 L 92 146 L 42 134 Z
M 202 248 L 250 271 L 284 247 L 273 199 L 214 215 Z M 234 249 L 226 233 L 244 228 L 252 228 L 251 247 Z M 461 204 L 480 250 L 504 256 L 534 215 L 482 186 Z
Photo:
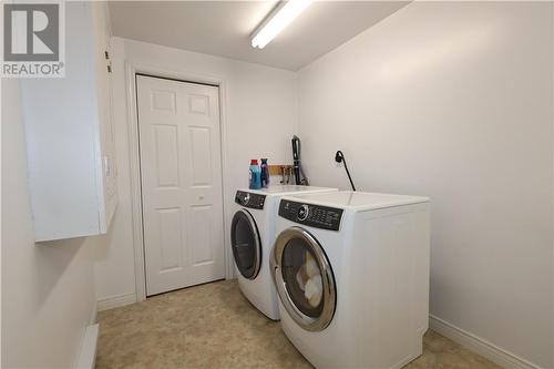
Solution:
M 158 70 L 212 75 L 226 82 L 226 161 L 228 198 L 247 186 L 250 158 L 290 163 L 290 137 L 297 133 L 296 74 L 258 64 L 114 38 L 112 43 L 115 146 L 119 205 L 107 235 L 98 250 L 96 285 L 101 300 L 135 294 L 130 199 L 130 157 L 124 60 Z M 228 213 L 230 221 L 232 214 Z M 226 229 L 225 235 L 228 235 Z

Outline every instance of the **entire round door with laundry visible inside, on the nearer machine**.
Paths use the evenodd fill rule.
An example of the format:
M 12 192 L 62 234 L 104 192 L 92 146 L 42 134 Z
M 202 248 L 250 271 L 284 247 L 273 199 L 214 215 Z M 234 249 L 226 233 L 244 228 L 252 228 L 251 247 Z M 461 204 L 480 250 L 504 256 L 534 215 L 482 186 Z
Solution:
M 337 294 L 330 264 L 316 238 L 299 227 L 281 232 L 270 263 L 290 317 L 306 330 L 325 329 L 332 320 Z

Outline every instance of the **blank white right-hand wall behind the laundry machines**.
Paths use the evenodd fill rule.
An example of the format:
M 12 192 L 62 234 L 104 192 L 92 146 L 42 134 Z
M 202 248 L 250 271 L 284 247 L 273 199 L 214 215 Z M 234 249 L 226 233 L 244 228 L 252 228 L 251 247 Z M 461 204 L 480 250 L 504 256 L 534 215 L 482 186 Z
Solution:
M 311 181 L 432 198 L 431 314 L 552 368 L 552 4 L 414 2 L 299 72 Z

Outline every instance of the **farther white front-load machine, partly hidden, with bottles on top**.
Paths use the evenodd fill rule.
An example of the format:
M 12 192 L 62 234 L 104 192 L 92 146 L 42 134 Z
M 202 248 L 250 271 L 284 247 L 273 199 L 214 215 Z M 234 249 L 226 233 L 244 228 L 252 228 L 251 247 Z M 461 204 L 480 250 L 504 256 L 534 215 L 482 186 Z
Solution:
M 337 188 L 283 185 L 238 189 L 230 224 L 230 245 L 238 286 L 246 298 L 270 319 L 279 319 L 277 293 L 269 273 L 279 199 L 285 195 L 337 192 Z

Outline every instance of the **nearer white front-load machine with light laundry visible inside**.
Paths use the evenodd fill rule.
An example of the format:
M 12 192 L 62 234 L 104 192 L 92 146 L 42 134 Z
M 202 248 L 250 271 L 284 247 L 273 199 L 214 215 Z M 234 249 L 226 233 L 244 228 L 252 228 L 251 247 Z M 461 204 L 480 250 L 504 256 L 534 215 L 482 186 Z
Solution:
M 316 368 L 400 368 L 429 320 L 429 198 L 286 196 L 270 268 L 286 336 Z

